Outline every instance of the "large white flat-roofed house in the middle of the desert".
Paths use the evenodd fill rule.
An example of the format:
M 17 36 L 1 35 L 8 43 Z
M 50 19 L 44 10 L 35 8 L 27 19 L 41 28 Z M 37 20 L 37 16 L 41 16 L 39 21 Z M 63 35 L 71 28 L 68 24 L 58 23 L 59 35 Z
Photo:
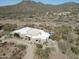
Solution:
M 50 34 L 40 29 L 25 27 L 19 30 L 11 32 L 13 36 L 19 36 L 24 40 L 31 41 L 33 43 L 44 43 L 49 39 Z

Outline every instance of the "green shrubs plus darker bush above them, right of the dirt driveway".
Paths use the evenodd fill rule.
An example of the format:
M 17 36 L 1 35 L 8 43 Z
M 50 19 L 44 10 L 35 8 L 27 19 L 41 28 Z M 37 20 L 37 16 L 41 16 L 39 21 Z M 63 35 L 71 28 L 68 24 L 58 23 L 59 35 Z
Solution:
M 49 55 L 51 54 L 51 48 L 46 47 L 43 49 L 42 45 L 37 44 L 35 50 L 35 56 L 37 59 L 49 59 Z

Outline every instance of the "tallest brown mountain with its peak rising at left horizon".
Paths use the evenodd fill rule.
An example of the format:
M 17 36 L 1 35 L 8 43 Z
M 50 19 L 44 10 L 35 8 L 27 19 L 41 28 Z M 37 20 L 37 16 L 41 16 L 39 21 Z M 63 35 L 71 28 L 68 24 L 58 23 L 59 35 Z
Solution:
M 44 10 L 43 10 L 44 9 Z M 34 1 L 22 1 L 17 5 L 0 7 L 0 13 L 34 13 L 45 11 L 46 8 L 43 4 L 36 3 Z

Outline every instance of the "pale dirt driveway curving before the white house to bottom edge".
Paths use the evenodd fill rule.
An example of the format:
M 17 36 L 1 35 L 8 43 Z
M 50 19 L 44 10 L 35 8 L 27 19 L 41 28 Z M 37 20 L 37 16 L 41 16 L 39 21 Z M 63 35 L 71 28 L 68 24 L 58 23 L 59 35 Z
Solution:
M 34 58 L 34 48 L 35 47 L 33 44 L 30 44 L 25 40 L 19 40 L 19 39 L 7 39 L 5 41 L 15 42 L 16 44 L 24 44 L 24 45 L 28 46 L 26 49 L 26 55 L 23 57 L 23 59 L 33 59 Z

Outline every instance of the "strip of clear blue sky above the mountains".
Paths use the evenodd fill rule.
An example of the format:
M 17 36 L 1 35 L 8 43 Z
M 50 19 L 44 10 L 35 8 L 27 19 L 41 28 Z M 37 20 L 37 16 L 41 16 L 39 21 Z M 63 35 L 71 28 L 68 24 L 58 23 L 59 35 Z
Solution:
M 6 6 L 6 5 L 13 5 L 21 2 L 22 0 L 0 0 L 0 6 Z M 34 0 L 37 2 L 42 2 L 45 4 L 61 4 L 65 2 L 77 2 L 79 3 L 79 0 Z

